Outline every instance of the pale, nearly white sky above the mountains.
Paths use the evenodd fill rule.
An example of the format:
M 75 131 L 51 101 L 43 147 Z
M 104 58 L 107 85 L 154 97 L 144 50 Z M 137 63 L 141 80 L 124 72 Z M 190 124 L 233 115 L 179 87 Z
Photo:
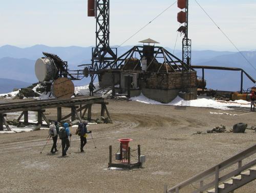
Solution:
M 240 50 L 256 50 L 255 0 L 197 0 Z M 111 45 L 120 45 L 175 0 L 111 0 Z M 196 50 L 235 50 L 194 0 L 189 0 L 189 37 Z M 176 5 L 125 45 L 151 37 L 173 48 L 179 27 Z M 0 6 L 0 46 L 94 46 L 95 19 L 87 0 L 8 0 Z M 179 36 L 177 49 L 181 49 Z

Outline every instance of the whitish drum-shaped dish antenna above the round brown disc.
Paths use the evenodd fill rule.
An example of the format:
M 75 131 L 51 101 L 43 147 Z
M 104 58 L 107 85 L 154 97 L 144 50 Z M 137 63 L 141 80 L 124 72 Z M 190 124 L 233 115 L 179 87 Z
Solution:
M 54 62 L 49 58 L 38 58 L 35 62 L 35 75 L 42 81 L 50 81 L 57 74 L 57 68 Z

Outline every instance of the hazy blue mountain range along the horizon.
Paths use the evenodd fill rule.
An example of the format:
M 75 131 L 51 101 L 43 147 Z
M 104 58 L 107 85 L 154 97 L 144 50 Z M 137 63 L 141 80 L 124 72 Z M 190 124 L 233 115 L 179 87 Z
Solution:
M 118 56 L 130 48 L 132 48 L 132 46 L 119 47 Z M 173 53 L 172 49 L 166 49 Z M 35 45 L 29 48 L 18 48 L 7 45 L 0 47 L 0 77 L 24 82 L 37 82 L 34 74 L 34 63 L 37 58 L 43 56 L 43 51 L 57 54 L 61 59 L 68 61 L 71 70 L 80 69 L 77 65 L 91 62 L 92 47 L 48 47 L 45 45 Z M 256 51 L 244 51 L 242 53 L 256 68 Z M 182 57 L 180 50 L 176 50 L 175 55 L 179 58 Z M 255 70 L 248 64 L 243 56 L 237 52 L 211 50 L 193 51 L 192 63 L 193 65 L 202 66 L 238 67 L 244 69 L 256 79 Z M 201 71 L 198 70 L 198 76 L 201 75 Z M 207 88 L 229 91 L 237 91 L 240 89 L 239 72 L 206 70 L 205 78 L 207 80 Z M 2 80 L 0 80 L 0 83 L 1 81 Z M 89 79 L 83 79 L 82 81 L 76 81 L 75 84 L 83 85 L 88 82 Z M 244 89 L 252 87 L 253 85 L 254 84 L 246 77 L 244 78 Z M 10 85 L 10 87 L 12 86 Z M 14 86 L 12 88 L 14 88 Z

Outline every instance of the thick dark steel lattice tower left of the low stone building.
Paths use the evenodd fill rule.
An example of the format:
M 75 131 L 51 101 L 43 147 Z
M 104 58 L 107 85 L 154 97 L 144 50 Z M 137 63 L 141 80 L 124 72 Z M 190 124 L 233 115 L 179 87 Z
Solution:
M 92 48 L 92 70 L 98 71 L 117 58 L 117 48 L 110 48 L 110 0 L 95 0 L 94 13 L 96 47 Z

